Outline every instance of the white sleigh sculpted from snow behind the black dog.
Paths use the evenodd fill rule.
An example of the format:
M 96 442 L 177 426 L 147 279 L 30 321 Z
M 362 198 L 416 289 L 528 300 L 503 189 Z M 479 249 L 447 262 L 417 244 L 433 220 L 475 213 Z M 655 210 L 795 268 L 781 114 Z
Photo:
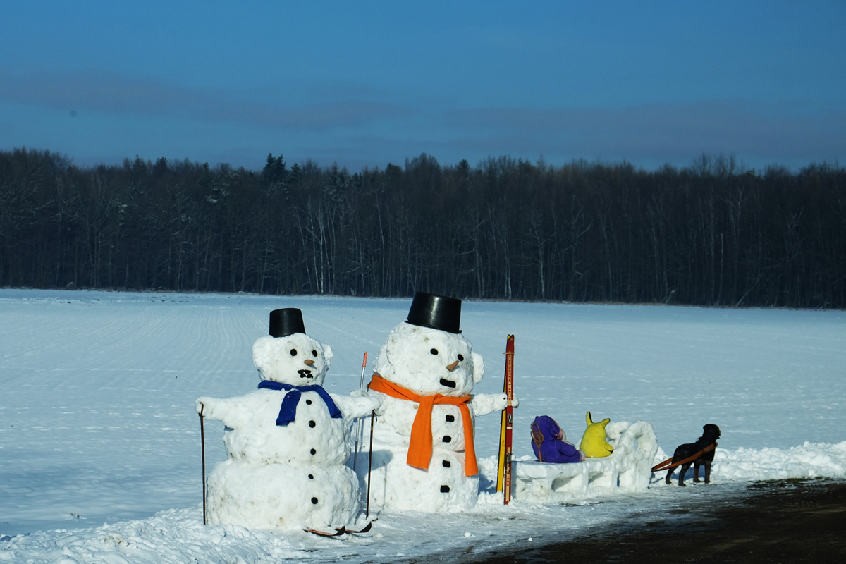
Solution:
M 614 452 L 582 463 L 514 463 L 514 499 L 533 503 L 574 503 L 619 491 L 649 487 L 658 440 L 645 421 L 608 424 Z

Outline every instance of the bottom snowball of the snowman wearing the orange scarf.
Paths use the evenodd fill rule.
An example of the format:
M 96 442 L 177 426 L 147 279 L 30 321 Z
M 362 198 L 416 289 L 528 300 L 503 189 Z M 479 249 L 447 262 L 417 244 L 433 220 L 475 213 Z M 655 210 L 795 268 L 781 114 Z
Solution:
M 371 509 L 460 512 L 475 507 L 479 477 L 464 475 L 464 452 L 436 448 L 428 470 L 409 466 L 407 456 L 404 449 L 373 451 Z

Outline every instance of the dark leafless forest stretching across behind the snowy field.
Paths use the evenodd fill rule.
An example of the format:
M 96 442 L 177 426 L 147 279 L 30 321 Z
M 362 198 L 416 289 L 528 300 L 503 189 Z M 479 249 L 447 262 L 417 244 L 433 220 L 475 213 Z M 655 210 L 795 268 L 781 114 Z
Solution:
M 846 307 L 846 170 L 0 151 L 0 286 Z

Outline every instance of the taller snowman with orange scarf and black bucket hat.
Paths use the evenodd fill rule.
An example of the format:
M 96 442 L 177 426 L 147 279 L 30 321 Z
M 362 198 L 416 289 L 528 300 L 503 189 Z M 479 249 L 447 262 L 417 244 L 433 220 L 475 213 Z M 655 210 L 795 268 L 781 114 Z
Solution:
M 479 495 L 474 418 L 505 394 L 472 395 L 484 363 L 459 329 L 461 300 L 416 293 L 382 346 L 368 385 L 382 399 L 373 428 L 371 507 L 458 512 Z M 360 470 L 360 474 L 361 470 Z

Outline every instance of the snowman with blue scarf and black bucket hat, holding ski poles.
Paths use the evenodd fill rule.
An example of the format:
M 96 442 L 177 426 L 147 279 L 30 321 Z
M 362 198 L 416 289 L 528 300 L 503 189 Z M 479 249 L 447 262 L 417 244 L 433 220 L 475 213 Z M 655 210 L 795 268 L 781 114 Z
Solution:
M 196 400 L 198 413 L 226 425 L 228 459 L 206 481 L 207 522 L 248 528 L 345 526 L 360 511 L 360 486 L 345 466 L 351 419 L 376 397 L 338 396 L 323 381 L 332 348 L 305 335 L 299 309 L 275 309 L 270 335 L 253 344 L 258 390 Z

